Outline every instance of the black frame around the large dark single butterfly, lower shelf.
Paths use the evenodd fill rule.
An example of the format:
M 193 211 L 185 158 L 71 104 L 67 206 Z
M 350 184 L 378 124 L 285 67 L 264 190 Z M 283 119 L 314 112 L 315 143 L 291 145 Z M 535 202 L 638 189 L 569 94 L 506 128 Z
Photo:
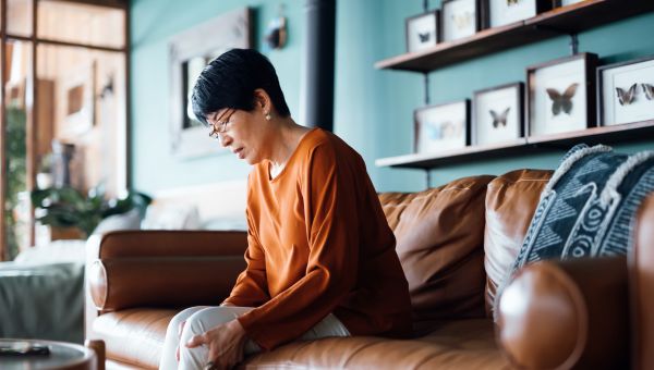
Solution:
M 596 115 L 596 104 L 595 104 L 595 70 L 597 67 L 597 54 L 592 53 L 592 52 L 582 52 L 582 53 L 578 53 L 574 55 L 570 55 L 570 57 L 565 57 L 565 58 L 560 58 L 560 59 L 555 59 L 545 63 L 541 63 L 541 64 L 536 64 L 536 65 L 531 65 L 529 67 L 526 67 L 526 92 L 525 92 L 525 97 L 526 99 L 524 100 L 524 104 L 525 104 L 525 135 L 526 136 L 533 136 L 532 135 L 532 122 L 531 122 L 531 106 L 532 106 L 532 99 L 533 99 L 533 94 L 532 94 L 532 83 L 531 83 L 531 76 L 532 74 L 541 69 L 545 69 L 545 67 L 549 67 L 549 66 L 554 66 L 557 64 L 564 64 L 564 63 L 568 63 L 571 61 L 576 61 L 579 59 L 583 59 L 584 63 L 585 63 L 585 76 L 584 76 L 584 81 L 586 82 L 585 85 L 583 87 L 585 87 L 586 89 L 586 108 L 585 108 L 585 115 L 586 115 L 586 125 L 585 128 L 590 128 L 590 127 L 595 127 L 596 126 L 596 121 L 595 121 L 595 115 Z

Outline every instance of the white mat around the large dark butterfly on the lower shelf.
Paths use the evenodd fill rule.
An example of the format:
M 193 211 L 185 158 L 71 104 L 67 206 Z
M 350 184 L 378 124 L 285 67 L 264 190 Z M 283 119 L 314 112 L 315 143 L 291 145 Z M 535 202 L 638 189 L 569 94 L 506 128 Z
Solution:
M 585 59 L 576 59 L 561 64 L 554 64 L 533 72 L 530 81 L 530 135 L 556 134 L 586 128 L 586 81 Z M 547 95 L 548 88 L 559 94 L 579 84 L 572 101 L 570 114 L 562 110 L 558 115 L 552 111 L 553 100 Z

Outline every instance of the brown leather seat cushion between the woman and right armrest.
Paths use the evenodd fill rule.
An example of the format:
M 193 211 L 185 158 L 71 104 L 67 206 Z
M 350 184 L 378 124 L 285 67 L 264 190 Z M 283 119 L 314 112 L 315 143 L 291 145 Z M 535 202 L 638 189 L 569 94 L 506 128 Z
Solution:
M 246 369 L 510 369 L 488 319 L 440 323 L 426 336 L 372 336 L 296 342 L 254 356 Z

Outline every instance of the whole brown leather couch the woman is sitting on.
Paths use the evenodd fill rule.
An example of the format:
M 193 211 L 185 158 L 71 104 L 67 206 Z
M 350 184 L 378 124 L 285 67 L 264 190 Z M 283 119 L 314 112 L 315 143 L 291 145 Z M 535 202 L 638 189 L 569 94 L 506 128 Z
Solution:
M 654 252 L 642 248 L 654 238 L 654 197 L 641 211 L 640 244 L 630 260 L 632 298 L 625 258 L 543 262 L 523 269 L 507 287 L 499 326 L 494 324 L 497 284 L 550 174 L 519 170 L 420 193 L 382 194 L 410 285 L 414 337 L 291 343 L 247 358 L 242 367 L 654 369 L 654 357 L 645 355 L 654 343 L 654 300 L 639 294 L 654 288 Z M 220 304 L 245 266 L 245 247 L 241 232 L 92 237 L 87 337 L 106 342 L 111 365 L 156 368 L 170 319 L 189 306 Z M 504 309 L 506 296 L 523 304 Z M 630 317 L 638 331 L 629 329 Z

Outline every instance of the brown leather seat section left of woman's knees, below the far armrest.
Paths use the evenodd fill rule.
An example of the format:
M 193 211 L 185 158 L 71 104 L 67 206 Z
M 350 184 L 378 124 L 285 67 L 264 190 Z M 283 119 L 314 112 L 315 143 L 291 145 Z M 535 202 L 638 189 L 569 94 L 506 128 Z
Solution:
M 104 340 L 107 358 L 156 369 L 168 323 L 181 310 L 128 309 L 99 316 L 93 323 L 97 338 Z

